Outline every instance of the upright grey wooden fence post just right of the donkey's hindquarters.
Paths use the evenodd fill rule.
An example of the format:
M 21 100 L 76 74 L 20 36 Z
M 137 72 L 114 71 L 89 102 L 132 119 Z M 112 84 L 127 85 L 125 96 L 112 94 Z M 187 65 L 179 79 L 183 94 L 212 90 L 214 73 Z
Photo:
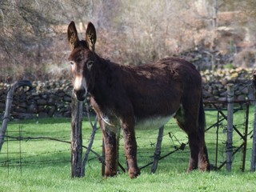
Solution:
M 227 135 L 226 135 L 226 170 L 232 168 L 233 154 L 233 113 L 234 113 L 234 85 L 227 85 Z

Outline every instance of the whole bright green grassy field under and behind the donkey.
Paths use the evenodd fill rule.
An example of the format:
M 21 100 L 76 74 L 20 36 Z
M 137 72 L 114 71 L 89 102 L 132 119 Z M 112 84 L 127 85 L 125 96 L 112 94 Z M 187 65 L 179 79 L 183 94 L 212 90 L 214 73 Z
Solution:
M 252 130 L 254 110 L 250 112 L 249 132 Z M 216 112 L 206 112 L 207 125 L 217 120 Z M 244 111 L 234 116 L 234 125 L 243 133 Z M 216 127 L 206 132 L 206 142 L 210 162 L 216 164 Z M 226 122 L 219 126 L 217 166 L 225 161 Z M 83 122 L 83 145 L 87 146 L 91 134 L 90 124 Z M 152 161 L 158 130 L 138 130 L 138 165 Z M 222 170 L 202 173 L 198 170 L 186 174 L 189 148 L 178 150 L 162 159 L 155 174 L 150 174 L 150 166 L 142 170 L 136 179 L 120 173 L 115 178 L 101 176 L 101 164 L 94 154 L 86 165 L 85 178 L 70 178 L 70 144 L 49 139 L 29 139 L 27 137 L 51 137 L 70 141 L 69 118 L 47 118 L 11 122 L 8 126 L 8 142 L 4 143 L 0 154 L 0 191 L 255 191 L 256 174 L 250 173 L 250 153 L 252 139 L 248 140 L 246 171 L 240 170 L 242 152 L 234 155 L 232 171 Z M 18 141 L 15 137 L 26 139 Z M 101 154 L 102 133 L 97 131 L 93 150 Z M 120 144 L 120 162 L 126 164 Z M 166 125 L 162 142 L 162 155 L 175 150 L 187 142 L 186 134 L 171 120 Z M 242 143 L 234 133 L 234 147 Z M 7 153 L 8 152 L 8 153 Z M 22 153 L 19 153 L 22 152 Z

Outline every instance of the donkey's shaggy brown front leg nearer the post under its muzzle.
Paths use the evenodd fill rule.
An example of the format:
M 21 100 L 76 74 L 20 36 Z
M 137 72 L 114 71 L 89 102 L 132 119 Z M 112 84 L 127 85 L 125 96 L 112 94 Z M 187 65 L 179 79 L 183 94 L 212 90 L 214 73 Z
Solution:
M 103 130 L 106 155 L 105 178 L 113 177 L 118 172 L 118 135 L 110 130 Z

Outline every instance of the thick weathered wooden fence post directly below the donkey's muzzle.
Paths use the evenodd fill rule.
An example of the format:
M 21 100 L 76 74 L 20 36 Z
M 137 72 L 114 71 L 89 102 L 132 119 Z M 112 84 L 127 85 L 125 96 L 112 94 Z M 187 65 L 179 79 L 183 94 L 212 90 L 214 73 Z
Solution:
M 71 177 L 82 177 L 82 102 L 72 93 Z

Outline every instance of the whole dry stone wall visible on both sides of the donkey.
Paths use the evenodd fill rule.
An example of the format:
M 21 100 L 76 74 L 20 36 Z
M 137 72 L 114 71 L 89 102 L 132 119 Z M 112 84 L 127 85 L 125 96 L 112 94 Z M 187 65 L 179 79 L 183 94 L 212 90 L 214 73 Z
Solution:
M 226 85 L 234 83 L 234 99 L 254 99 L 251 79 L 253 70 L 210 70 L 201 72 L 204 100 L 226 101 Z M 70 80 L 33 82 L 34 89 L 18 89 L 14 94 L 12 117 L 70 117 L 72 83 Z M 5 110 L 9 84 L 0 83 L 0 117 Z M 86 109 L 84 108 L 86 113 Z

